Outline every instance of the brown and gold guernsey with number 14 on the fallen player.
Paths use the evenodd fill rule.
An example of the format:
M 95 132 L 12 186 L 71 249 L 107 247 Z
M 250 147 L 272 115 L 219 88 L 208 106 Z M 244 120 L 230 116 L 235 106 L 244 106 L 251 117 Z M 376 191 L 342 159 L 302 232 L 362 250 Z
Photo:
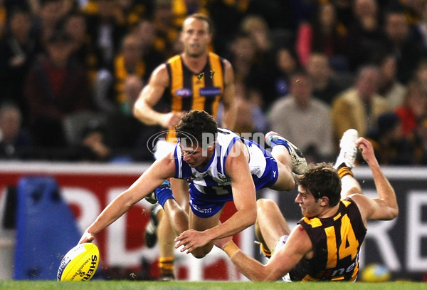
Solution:
M 334 216 L 304 217 L 299 224 L 317 254 L 310 261 L 301 260 L 289 272 L 292 281 L 354 281 L 359 272 L 360 247 L 367 234 L 357 205 L 347 198 L 341 200 Z

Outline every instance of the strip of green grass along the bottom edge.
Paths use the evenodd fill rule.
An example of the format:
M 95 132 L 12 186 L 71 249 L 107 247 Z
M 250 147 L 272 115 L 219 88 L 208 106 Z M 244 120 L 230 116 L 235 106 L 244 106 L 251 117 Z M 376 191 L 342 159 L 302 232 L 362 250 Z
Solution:
M 56 282 L 56 281 L 0 281 L 1 290 L 237 290 L 237 289 L 297 289 L 297 290 L 418 290 L 427 289 L 427 283 L 417 282 L 385 282 L 385 283 L 278 283 L 278 282 L 218 282 L 218 281 L 85 281 L 85 282 Z

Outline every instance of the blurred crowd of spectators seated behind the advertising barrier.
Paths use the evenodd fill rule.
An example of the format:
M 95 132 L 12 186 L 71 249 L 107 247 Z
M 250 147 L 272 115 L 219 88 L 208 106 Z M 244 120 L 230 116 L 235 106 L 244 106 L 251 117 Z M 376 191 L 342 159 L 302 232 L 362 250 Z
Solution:
M 164 128 L 132 106 L 196 12 L 234 68 L 236 132 L 275 130 L 311 162 L 356 128 L 382 165 L 427 164 L 423 0 L 0 0 L 0 159 L 153 160 Z

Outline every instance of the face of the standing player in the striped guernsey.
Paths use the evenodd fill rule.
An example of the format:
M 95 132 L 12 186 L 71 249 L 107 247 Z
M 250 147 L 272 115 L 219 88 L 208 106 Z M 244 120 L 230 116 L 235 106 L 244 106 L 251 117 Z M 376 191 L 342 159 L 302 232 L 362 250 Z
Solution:
M 189 18 L 184 21 L 181 33 L 181 42 L 184 53 L 193 58 L 203 56 L 211 42 L 212 35 L 209 33 L 209 24 L 206 21 Z

